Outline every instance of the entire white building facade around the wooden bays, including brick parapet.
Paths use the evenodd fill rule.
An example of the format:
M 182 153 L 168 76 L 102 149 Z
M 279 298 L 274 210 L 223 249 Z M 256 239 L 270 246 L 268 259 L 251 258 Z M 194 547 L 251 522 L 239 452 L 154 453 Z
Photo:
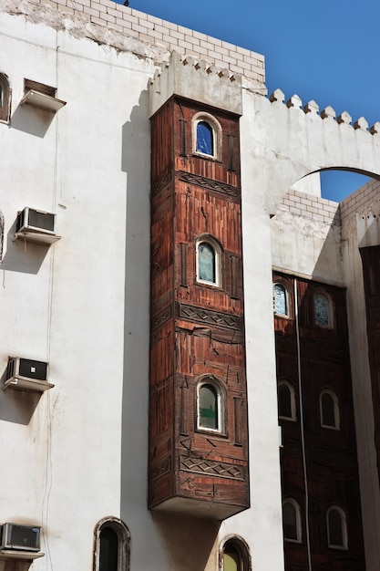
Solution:
M 365 559 L 376 571 L 380 494 L 358 248 L 379 244 L 378 191 L 371 183 L 341 205 L 313 186 L 286 193 L 328 168 L 379 178 L 379 125 L 335 119 L 297 96 L 285 103 L 280 90 L 268 98 L 262 56 L 110 0 L 0 5 L 0 370 L 6 385 L 9 358 L 48 363 L 54 385 L 0 393 L 0 524 L 40 526 L 45 554 L 3 548 L 1 571 L 103 571 L 105 524 L 118 535 L 118 571 L 216 571 L 231 538 L 248 554 L 236 568 L 284 569 L 272 267 L 347 288 Z M 241 115 L 250 452 L 251 507 L 222 522 L 149 511 L 147 500 L 149 119 L 173 94 L 225 105 L 229 89 L 211 77 L 239 84 L 231 107 Z M 45 105 L 66 104 L 24 100 L 46 87 Z M 26 207 L 56 214 L 60 239 L 15 237 Z

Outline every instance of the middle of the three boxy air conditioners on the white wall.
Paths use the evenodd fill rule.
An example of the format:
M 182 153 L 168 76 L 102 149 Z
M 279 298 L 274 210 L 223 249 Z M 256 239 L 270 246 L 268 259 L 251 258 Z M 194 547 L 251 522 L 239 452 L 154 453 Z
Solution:
M 22 390 L 46 390 L 54 387 L 47 382 L 48 365 L 30 358 L 9 358 L 4 387 Z

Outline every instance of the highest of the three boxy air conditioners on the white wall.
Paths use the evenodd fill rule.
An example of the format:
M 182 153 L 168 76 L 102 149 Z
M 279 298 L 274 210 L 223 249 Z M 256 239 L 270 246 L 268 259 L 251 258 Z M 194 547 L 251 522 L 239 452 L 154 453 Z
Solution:
M 15 238 L 37 244 L 53 244 L 60 237 L 56 235 L 56 214 L 28 206 L 17 214 Z

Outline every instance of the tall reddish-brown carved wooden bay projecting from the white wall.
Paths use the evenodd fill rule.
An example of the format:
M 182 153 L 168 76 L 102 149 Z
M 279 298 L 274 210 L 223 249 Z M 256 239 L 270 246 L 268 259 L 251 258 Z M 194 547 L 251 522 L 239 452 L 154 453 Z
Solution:
M 221 125 L 218 161 L 193 154 L 200 110 Z M 240 189 L 239 118 L 171 99 L 152 118 L 151 508 L 223 519 L 249 505 Z M 200 236 L 220 244 L 218 285 L 197 281 Z M 201 379 L 220 391 L 218 430 L 199 426 Z

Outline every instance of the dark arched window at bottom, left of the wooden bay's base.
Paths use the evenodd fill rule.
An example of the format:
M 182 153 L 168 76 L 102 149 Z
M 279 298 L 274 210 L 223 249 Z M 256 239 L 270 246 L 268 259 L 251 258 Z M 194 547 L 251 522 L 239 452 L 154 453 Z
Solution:
M 127 525 L 107 517 L 95 530 L 95 571 L 129 571 L 130 535 Z

